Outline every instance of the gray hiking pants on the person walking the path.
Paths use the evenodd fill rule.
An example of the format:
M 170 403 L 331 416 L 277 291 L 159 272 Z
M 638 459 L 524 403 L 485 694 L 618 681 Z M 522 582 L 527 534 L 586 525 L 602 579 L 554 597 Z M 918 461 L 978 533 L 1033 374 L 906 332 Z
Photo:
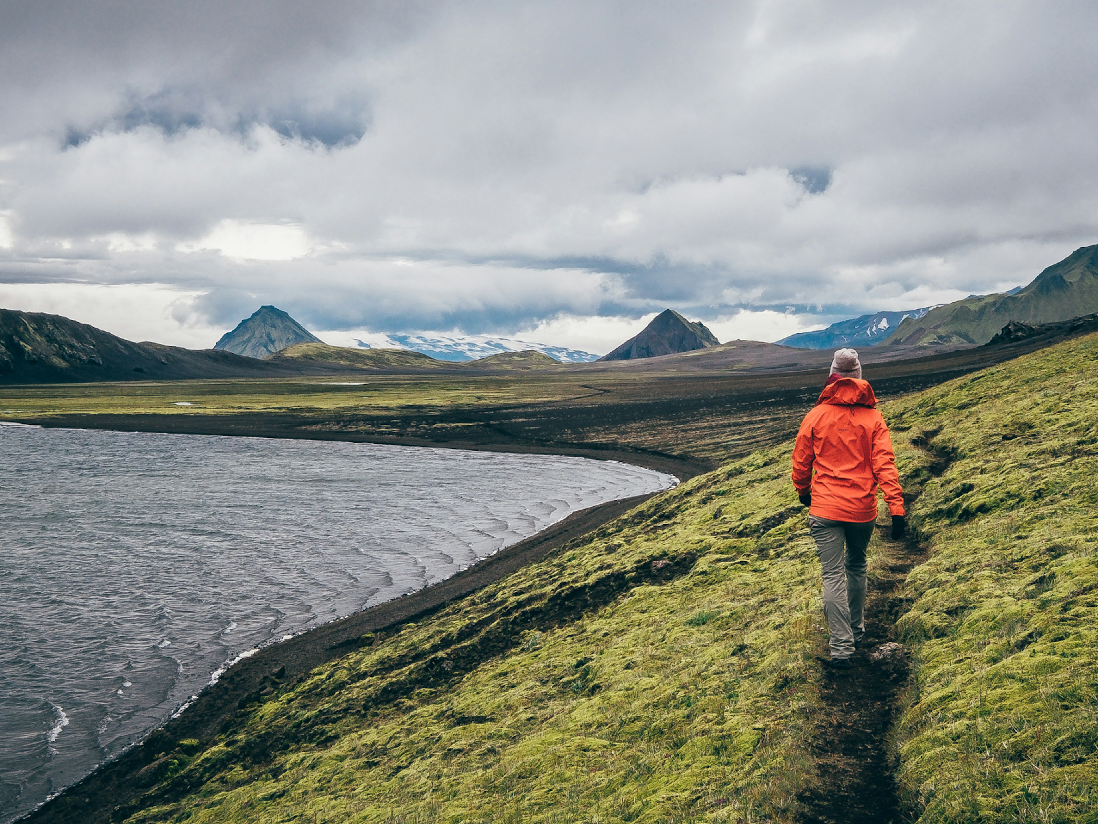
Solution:
M 824 571 L 824 617 L 831 633 L 831 658 L 852 656 L 854 642 L 865 633 L 865 547 L 873 537 L 873 524 L 808 516 Z

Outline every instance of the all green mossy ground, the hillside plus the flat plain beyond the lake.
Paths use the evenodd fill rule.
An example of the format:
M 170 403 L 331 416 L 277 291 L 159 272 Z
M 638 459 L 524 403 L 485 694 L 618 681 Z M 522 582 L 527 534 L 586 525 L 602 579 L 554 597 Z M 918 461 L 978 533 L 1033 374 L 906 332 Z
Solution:
M 876 641 L 903 648 L 861 650 L 851 676 L 892 684 L 871 742 L 889 817 L 867 820 L 1098 822 L 1096 366 L 1091 334 L 883 404 L 912 535 L 871 545 Z M 832 820 L 850 765 L 825 744 L 847 687 L 822 664 L 819 568 L 788 481 L 789 427 L 811 403 L 794 383 L 773 396 L 788 401 L 778 423 L 710 401 L 729 431 L 691 441 L 713 427 L 704 403 L 634 419 L 629 448 L 716 468 L 309 673 L 271 672 L 209 739 L 154 736 L 111 820 Z M 428 439 L 415 426 L 438 404 L 593 403 L 518 378 L 397 385 L 19 387 L 0 416 L 138 420 L 177 401 L 300 416 L 314 398 L 306 426 L 391 420 L 394 437 Z M 333 410 L 349 410 L 341 424 Z M 501 438 L 520 430 L 507 420 L 519 428 Z M 75 820 L 80 801 L 32 820 Z

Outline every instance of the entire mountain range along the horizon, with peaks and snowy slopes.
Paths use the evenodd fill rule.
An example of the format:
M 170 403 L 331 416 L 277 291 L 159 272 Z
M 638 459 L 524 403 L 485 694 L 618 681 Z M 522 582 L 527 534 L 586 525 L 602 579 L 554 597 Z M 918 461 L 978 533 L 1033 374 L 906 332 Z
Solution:
M 1096 312 L 1098 245 L 1075 250 L 1044 269 L 1029 286 L 1011 292 L 971 296 L 929 310 L 863 315 L 817 333 L 789 336 L 780 344 L 733 341 L 720 345 L 704 324 L 687 321 L 669 309 L 640 334 L 600 358 L 600 364 L 587 364 L 585 368 L 815 369 L 816 361 L 826 354 L 819 352 L 817 357 L 811 352 L 816 347 L 827 349 L 864 341 L 870 344 L 863 352 L 866 363 L 908 358 L 926 352 L 928 346 L 948 352 L 984 344 L 996 336 L 998 343 L 1005 343 L 1021 337 L 1074 334 L 1073 319 Z M 892 329 L 896 315 L 899 315 L 896 331 L 883 342 L 885 345 L 875 344 Z M 359 369 L 512 371 L 581 368 L 583 360 L 592 357 L 575 349 L 535 347 L 511 338 L 474 339 L 473 346 L 468 339 L 457 337 L 393 337 L 394 343 L 407 348 L 328 346 L 285 312 L 264 305 L 224 335 L 217 342 L 219 348 L 195 350 L 125 341 L 60 315 L 0 310 L 0 382 L 279 377 Z M 444 352 L 436 350 L 433 353 L 436 357 L 429 357 L 412 349 L 413 345 Z M 516 352 L 519 346 L 528 348 Z M 796 354 L 798 349 L 804 354 Z M 482 352 L 494 354 L 468 359 Z M 449 357 L 439 359 L 439 354 Z M 647 361 L 657 357 L 660 360 L 649 366 Z M 452 363 L 458 358 L 467 363 Z M 558 363 L 564 359 L 572 363 Z

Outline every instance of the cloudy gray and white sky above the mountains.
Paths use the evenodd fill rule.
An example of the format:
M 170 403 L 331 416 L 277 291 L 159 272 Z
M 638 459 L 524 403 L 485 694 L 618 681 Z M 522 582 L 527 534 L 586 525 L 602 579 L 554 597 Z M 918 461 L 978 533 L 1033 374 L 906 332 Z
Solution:
M 666 307 L 776 339 L 1007 289 L 1098 243 L 1096 30 L 1009 0 L 5 0 L 0 305 L 606 352 Z

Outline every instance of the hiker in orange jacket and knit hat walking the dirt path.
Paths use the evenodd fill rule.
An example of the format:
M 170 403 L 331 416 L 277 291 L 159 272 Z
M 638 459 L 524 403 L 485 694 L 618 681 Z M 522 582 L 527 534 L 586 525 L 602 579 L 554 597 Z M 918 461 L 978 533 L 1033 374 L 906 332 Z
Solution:
M 839 349 L 793 448 L 793 486 L 808 506 L 819 550 L 831 666 L 838 668 L 850 666 L 865 633 L 865 548 L 877 517 L 878 487 L 892 512 L 893 538 L 907 526 L 892 438 L 876 404 L 858 353 Z

